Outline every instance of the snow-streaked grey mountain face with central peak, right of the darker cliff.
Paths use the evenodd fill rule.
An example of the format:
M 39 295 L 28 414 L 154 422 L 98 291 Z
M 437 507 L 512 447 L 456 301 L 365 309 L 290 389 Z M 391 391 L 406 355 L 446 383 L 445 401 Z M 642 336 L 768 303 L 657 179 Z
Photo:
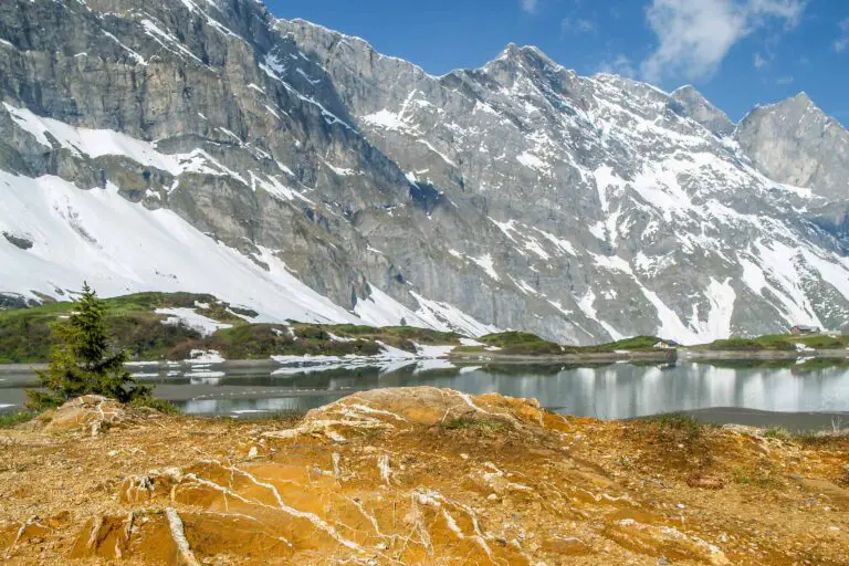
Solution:
M 485 211 L 509 239 L 492 266 L 509 273 L 502 286 L 557 303 L 579 322 L 575 339 L 846 323 L 849 290 L 824 273 L 845 272 L 839 247 L 798 214 L 817 199 L 675 112 L 681 92 L 579 77 L 516 45 L 432 77 L 307 22 L 277 28 L 326 66 L 367 137 L 411 178 Z M 457 250 L 480 258 L 463 249 L 480 240 Z

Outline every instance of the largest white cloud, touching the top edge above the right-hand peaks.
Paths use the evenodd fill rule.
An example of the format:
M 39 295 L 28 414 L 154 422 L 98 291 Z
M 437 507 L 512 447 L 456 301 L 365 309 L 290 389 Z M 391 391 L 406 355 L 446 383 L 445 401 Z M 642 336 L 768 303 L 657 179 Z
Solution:
M 712 75 L 740 40 L 771 21 L 798 25 L 807 0 L 652 0 L 647 19 L 657 50 L 642 62 L 653 82 Z

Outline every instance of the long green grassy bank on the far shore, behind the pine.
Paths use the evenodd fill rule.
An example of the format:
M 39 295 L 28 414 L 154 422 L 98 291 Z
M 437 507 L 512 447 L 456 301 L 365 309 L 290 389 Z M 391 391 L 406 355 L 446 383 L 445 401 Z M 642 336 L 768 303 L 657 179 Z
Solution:
M 386 344 L 415 353 L 416 344 L 453 345 L 457 353 L 494 352 L 516 356 L 606 354 L 617 350 L 650 352 L 657 336 L 638 336 L 596 346 L 560 346 L 534 334 L 505 332 L 479 338 L 483 346 L 461 346 L 457 333 L 409 326 L 376 328 L 353 324 L 253 324 L 244 317 L 255 312 L 198 293 L 137 293 L 103 300 L 105 325 L 115 346 L 134 360 L 181 360 L 191 350 L 214 349 L 227 359 L 268 359 L 270 356 L 370 356 Z M 66 319 L 75 303 L 45 302 L 31 308 L 0 311 L 0 364 L 44 363 L 49 359 L 51 325 Z M 202 306 L 198 306 L 202 305 Z M 168 316 L 158 308 L 192 308 L 200 315 L 231 325 L 211 336 L 182 325 L 163 324 Z M 294 335 L 293 335 L 294 333 Z M 380 343 L 380 344 L 378 344 Z M 490 348 L 489 350 L 486 348 Z

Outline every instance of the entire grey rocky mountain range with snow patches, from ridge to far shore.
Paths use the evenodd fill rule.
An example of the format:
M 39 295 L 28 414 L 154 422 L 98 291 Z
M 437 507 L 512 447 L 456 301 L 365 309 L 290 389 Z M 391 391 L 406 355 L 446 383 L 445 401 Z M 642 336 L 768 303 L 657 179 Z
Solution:
M 849 134 L 804 95 L 735 125 L 516 45 L 437 77 L 254 0 L 7 2 L 0 93 L 6 301 L 87 277 L 583 344 L 849 326 Z

